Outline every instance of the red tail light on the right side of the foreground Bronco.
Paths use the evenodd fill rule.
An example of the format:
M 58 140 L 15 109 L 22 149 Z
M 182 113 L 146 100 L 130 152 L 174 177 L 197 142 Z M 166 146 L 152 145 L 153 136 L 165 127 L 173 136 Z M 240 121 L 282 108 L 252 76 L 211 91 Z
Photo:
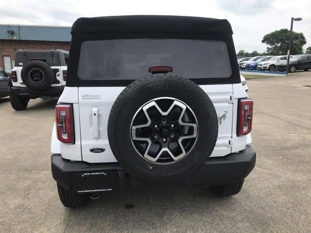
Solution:
M 252 130 L 253 100 L 242 99 L 239 102 L 238 136 L 246 135 Z

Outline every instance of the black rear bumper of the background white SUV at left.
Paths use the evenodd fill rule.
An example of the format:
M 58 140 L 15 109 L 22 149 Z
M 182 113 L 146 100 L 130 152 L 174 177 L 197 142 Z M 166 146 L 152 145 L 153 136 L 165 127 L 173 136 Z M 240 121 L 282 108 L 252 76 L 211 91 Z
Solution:
M 37 98 L 41 96 L 60 97 L 65 86 L 51 86 L 44 91 L 34 91 L 28 87 L 9 86 L 9 92 L 15 95 L 29 96 L 30 98 Z

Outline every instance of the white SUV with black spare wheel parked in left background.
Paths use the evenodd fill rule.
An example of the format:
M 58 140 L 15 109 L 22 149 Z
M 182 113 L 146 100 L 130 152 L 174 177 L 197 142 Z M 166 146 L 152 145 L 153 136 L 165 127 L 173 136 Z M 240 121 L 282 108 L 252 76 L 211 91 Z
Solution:
M 30 99 L 60 97 L 67 77 L 68 51 L 17 50 L 8 83 L 12 107 L 25 110 Z

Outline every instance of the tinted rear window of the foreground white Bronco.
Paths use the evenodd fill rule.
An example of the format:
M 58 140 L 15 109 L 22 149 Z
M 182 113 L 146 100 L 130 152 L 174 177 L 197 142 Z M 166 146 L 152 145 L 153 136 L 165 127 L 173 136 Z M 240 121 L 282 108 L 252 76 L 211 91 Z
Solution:
M 114 39 L 84 41 L 81 80 L 135 80 L 149 67 L 170 66 L 189 79 L 228 78 L 232 71 L 226 43 L 193 39 Z

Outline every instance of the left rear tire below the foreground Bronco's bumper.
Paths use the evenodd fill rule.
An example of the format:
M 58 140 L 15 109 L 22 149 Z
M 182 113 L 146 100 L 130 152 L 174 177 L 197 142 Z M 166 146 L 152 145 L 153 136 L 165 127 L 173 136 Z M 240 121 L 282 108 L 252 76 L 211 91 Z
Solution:
M 58 196 L 65 207 L 78 208 L 86 205 L 88 201 L 87 194 L 73 195 L 57 183 Z

